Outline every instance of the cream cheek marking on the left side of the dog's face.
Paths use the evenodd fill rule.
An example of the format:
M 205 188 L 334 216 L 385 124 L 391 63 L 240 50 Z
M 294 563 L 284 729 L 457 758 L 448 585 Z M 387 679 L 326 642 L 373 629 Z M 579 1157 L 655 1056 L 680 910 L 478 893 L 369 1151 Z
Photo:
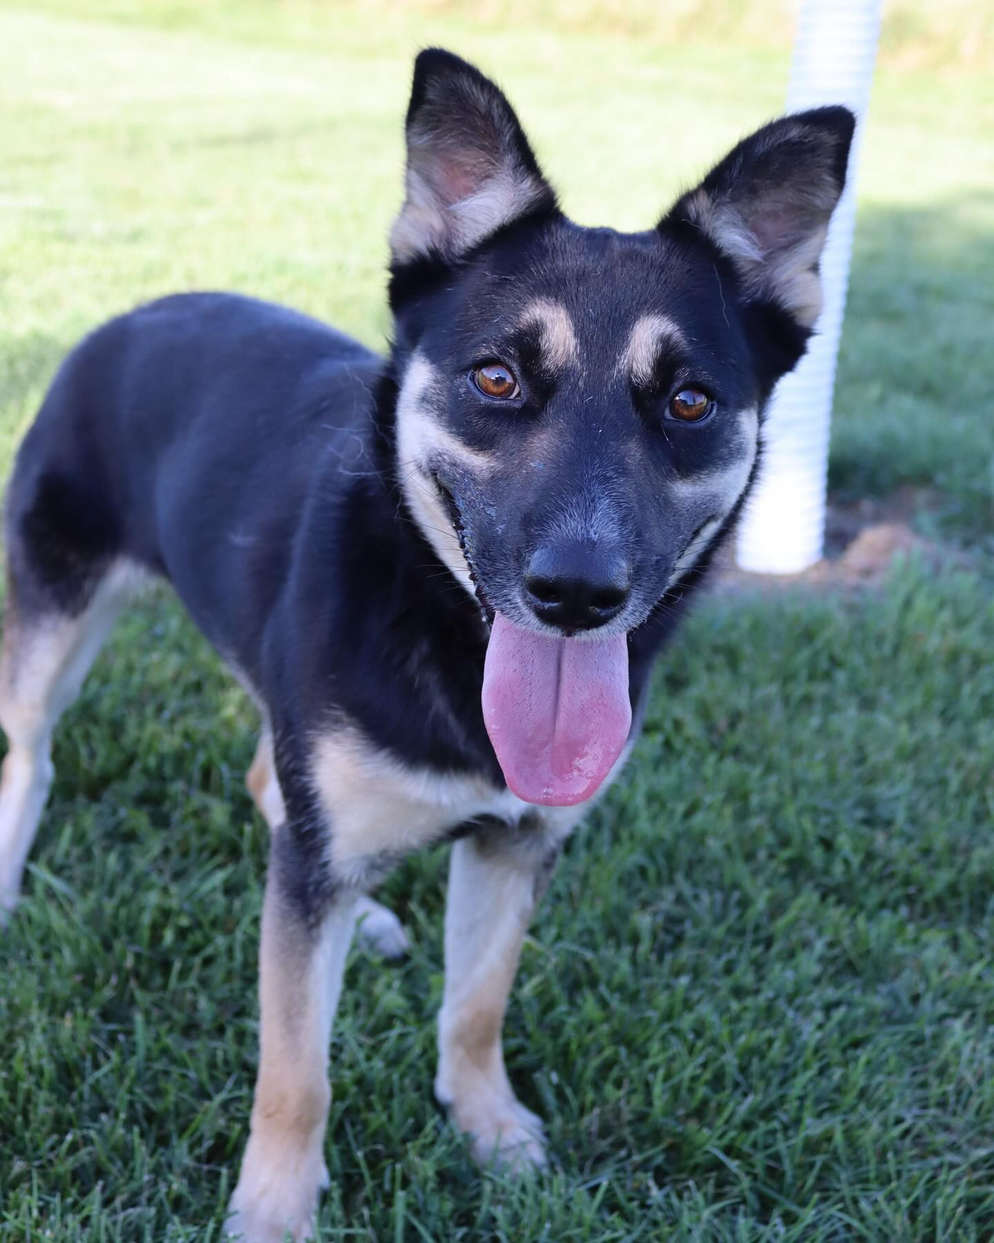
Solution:
M 426 474 L 429 462 L 436 457 L 457 461 L 476 474 L 482 474 L 492 464 L 486 454 L 470 449 L 439 426 L 429 406 L 429 393 L 440 382 L 441 377 L 431 363 L 422 354 L 415 353 L 404 374 L 396 404 L 398 474 L 404 498 L 421 533 L 441 563 L 473 595 L 470 568 L 462 556 L 458 536 Z

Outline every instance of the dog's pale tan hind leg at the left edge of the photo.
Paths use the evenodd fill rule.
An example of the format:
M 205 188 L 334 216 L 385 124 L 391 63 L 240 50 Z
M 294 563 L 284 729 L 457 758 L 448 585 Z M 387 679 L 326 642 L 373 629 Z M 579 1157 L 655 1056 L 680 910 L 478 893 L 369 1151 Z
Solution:
M 16 905 L 31 843 L 52 783 L 56 722 L 83 679 L 128 595 L 129 574 L 103 574 L 75 614 L 25 612 L 11 583 L 0 655 L 0 726 L 7 753 L 0 782 L 0 921 Z

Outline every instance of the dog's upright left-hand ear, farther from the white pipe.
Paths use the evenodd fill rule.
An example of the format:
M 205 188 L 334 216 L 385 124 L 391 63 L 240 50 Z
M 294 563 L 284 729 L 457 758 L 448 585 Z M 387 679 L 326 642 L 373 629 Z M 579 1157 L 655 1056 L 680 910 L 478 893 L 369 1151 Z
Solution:
M 514 111 L 488 78 L 439 47 L 414 62 L 406 198 L 390 234 L 394 264 L 451 261 L 533 213 L 555 211 Z

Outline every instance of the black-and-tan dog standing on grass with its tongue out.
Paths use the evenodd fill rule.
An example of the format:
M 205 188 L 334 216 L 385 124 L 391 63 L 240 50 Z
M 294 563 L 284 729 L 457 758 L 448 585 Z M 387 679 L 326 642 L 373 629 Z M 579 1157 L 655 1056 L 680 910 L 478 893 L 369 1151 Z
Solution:
M 404 950 L 368 895 L 434 843 L 454 843 L 435 1091 L 478 1161 L 545 1161 L 501 1048 L 522 938 L 757 477 L 852 131 L 842 107 L 784 117 L 655 227 L 579 227 L 498 87 L 429 48 L 386 358 L 191 293 L 58 370 L 6 502 L 0 902 L 60 713 L 134 589 L 168 580 L 262 718 L 261 1054 L 231 1237 L 312 1237 L 353 930 Z

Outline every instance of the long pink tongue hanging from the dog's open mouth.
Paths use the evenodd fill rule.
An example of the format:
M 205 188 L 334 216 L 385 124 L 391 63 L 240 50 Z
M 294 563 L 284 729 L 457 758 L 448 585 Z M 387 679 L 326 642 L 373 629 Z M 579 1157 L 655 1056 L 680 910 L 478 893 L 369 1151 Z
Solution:
M 483 666 L 483 721 L 504 779 L 526 803 L 581 803 L 629 736 L 629 650 L 611 639 L 552 639 L 499 613 Z

